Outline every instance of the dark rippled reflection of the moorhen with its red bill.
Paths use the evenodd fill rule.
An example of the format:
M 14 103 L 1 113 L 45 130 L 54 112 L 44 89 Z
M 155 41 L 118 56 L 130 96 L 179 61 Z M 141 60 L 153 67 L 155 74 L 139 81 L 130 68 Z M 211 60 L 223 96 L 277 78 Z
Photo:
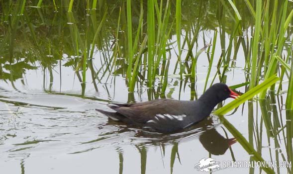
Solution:
M 108 124 L 117 125 L 117 122 L 109 119 Z M 216 127 L 219 126 L 220 122 L 218 121 L 218 117 L 211 115 L 183 131 L 176 133 L 163 134 L 150 132 L 125 125 L 119 132 L 134 131 L 135 134 L 131 137 L 133 140 L 132 142 L 136 147 L 145 146 L 146 148 L 151 146 L 174 145 L 174 143 L 178 144 L 199 138 L 200 143 L 209 153 L 212 155 L 223 155 L 231 145 L 236 143 L 236 139 L 223 137 L 216 130 Z M 224 128 L 223 130 L 225 131 Z

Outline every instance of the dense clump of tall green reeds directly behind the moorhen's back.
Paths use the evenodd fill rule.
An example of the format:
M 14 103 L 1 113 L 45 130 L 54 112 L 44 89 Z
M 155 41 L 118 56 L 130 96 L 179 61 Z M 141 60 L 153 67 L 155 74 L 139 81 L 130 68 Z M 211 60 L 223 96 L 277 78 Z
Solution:
M 142 69 L 142 57 L 143 52 L 147 50 L 147 86 L 153 87 L 155 83 L 156 75 L 159 74 L 160 62 L 166 58 L 166 46 L 168 45 L 168 38 L 171 33 L 171 29 L 168 29 L 169 25 L 169 16 L 170 16 L 170 1 L 167 0 L 166 4 L 163 1 L 158 4 L 157 1 L 149 0 L 147 8 L 147 37 L 141 38 L 140 33 L 143 32 L 143 3 L 141 0 L 140 3 L 140 17 L 138 21 L 138 26 L 136 30 L 136 35 L 134 38 L 134 44 L 132 44 L 132 8 L 131 1 L 127 1 L 127 39 L 128 39 L 128 53 L 127 53 L 127 73 L 126 79 L 128 81 L 128 90 L 130 92 L 134 91 L 135 84 L 139 78 L 139 70 Z M 163 8 L 165 7 L 165 8 Z M 156 20 L 157 19 L 157 20 Z M 156 23 L 157 22 L 157 23 Z M 158 26 L 157 30 L 155 26 Z M 142 42 L 140 42 L 142 40 Z M 138 46 L 139 45 L 139 46 Z M 168 71 L 164 69 L 162 72 L 162 78 L 164 80 L 165 89 L 167 84 L 168 74 L 165 73 Z

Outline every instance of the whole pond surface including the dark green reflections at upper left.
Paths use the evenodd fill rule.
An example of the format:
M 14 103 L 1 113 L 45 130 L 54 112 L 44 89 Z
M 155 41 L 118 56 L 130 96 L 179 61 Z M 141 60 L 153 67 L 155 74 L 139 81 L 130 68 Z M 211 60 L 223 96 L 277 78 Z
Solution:
M 83 9 L 75 8 L 72 16 L 65 10 L 68 8 L 66 4 L 58 6 L 58 12 L 54 12 L 53 5 L 44 4 L 41 8 L 35 8 L 32 7 L 36 5 L 34 3 L 25 6 L 24 15 L 17 15 L 11 8 L 1 12 L 1 19 L 4 21 L 0 26 L 0 38 L 4 46 L 0 49 L 1 174 L 197 174 L 203 173 L 195 169 L 195 165 L 203 158 L 212 158 L 221 164 L 221 170 L 215 172 L 217 174 L 264 173 L 257 166 L 222 167 L 226 162 L 249 161 L 252 156 L 240 143 L 235 142 L 233 135 L 215 115 L 210 115 L 182 132 L 161 134 L 118 123 L 97 112 L 95 108 L 109 109 L 106 104 L 113 101 L 126 103 L 157 98 L 198 98 L 204 90 L 210 53 L 205 49 L 198 57 L 195 83 L 185 77 L 181 80 L 177 65 L 178 47 L 177 43 L 173 43 L 177 38 L 173 33 L 168 38 L 168 43 L 173 43 L 173 46 L 169 50 L 170 54 L 168 53 L 170 76 L 166 91 L 161 92 L 161 78 L 158 76 L 153 87 L 147 87 L 147 81 L 138 81 L 134 92 L 128 92 L 125 78 L 127 65 L 124 65 L 123 54 L 117 57 L 113 70 L 109 70 L 111 65 L 105 66 L 111 64 L 114 54 L 111 44 L 115 42 L 115 37 L 109 33 L 115 33 L 119 7 L 123 9 L 126 2 L 108 2 L 107 10 L 111 12 L 106 16 L 107 22 L 100 31 L 93 59 L 87 62 L 86 71 L 77 68 L 83 66 L 79 64 L 83 50 L 80 48 L 81 51 L 76 54 L 78 44 L 73 44 L 75 36 L 70 32 L 77 30 L 77 34 L 82 37 L 87 32 L 95 33 L 94 29 L 86 32 L 85 25 L 94 15 L 97 20 L 101 19 L 103 6 L 99 4 L 101 7 L 97 9 L 98 14 L 88 15 L 86 4 L 79 3 Z M 196 9 L 200 8 L 199 4 L 193 5 Z M 212 9 L 212 5 L 206 8 Z M 139 12 L 139 7 L 137 10 Z M 185 11 L 185 22 L 189 19 L 185 15 L 196 19 L 195 14 Z M 216 22 L 213 11 L 205 16 Z M 71 17 L 76 22 L 72 22 Z M 138 19 L 139 15 L 133 14 L 133 23 L 138 22 Z M 8 31 L 8 25 L 10 22 L 13 24 L 14 20 L 17 20 L 16 31 L 11 34 L 14 30 Z M 182 58 L 188 56 L 189 50 L 195 55 L 200 48 L 213 40 L 215 30 L 223 30 L 221 25 L 213 22 L 200 23 L 201 29 L 196 35 L 195 47 L 190 49 L 188 44 L 183 46 Z M 198 23 L 195 20 L 183 25 L 196 29 Z M 216 37 L 208 86 L 212 83 L 213 76 L 216 77 L 213 83 L 220 82 L 217 63 L 221 59 L 223 44 L 228 49 L 231 37 L 229 30 L 232 28 L 228 25 L 226 27 L 226 32 L 221 31 Z M 251 39 L 248 28 L 243 28 L 244 36 L 239 36 L 243 37 L 247 48 Z M 119 33 L 125 33 L 124 29 L 121 26 Z M 183 30 L 181 43 L 186 42 L 187 35 L 191 39 L 195 37 L 195 33 Z M 123 38 L 120 40 L 124 42 Z M 121 50 L 124 48 L 125 45 L 121 43 Z M 234 66 L 228 67 L 224 74 L 226 79 L 221 82 L 228 86 L 249 82 L 245 52 L 241 46 L 237 51 L 234 46 L 231 48 L 231 55 L 234 54 L 235 59 L 231 58 L 230 61 Z M 224 67 L 220 68 L 221 71 L 223 69 Z M 140 72 L 143 76 L 146 73 L 143 69 Z M 284 81 L 282 87 L 287 89 L 288 79 L 285 77 Z M 278 87 L 276 84 L 276 89 Z M 236 90 L 245 93 L 247 87 Z M 278 95 L 276 91 L 270 91 L 265 101 L 254 98 L 225 115 L 265 161 L 287 162 L 290 158 L 287 155 L 290 145 L 285 129 L 287 117 L 290 116 L 288 113 L 286 115 L 286 96 L 286 90 L 281 89 Z M 222 104 L 232 100 L 226 99 Z M 267 120 L 262 117 L 262 109 L 267 113 Z M 291 167 L 276 168 L 274 171 L 290 173 Z

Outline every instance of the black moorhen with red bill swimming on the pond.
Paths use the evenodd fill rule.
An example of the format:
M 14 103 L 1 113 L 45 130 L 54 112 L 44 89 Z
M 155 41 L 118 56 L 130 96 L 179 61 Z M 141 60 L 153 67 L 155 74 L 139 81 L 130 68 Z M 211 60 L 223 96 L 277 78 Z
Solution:
M 214 84 L 198 100 L 156 99 L 140 103 L 110 103 L 116 112 L 96 109 L 115 121 L 142 126 L 158 132 L 175 132 L 209 116 L 212 109 L 226 98 L 237 98 L 225 84 Z

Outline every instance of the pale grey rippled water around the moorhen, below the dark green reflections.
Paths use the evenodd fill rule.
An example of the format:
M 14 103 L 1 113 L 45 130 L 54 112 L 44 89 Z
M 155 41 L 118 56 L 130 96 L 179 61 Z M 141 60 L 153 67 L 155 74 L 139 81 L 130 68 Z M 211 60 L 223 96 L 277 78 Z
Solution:
M 70 25 L 63 22 L 65 26 Z M 201 34 L 197 48 L 204 46 L 203 35 L 205 40 L 213 37 L 210 30 Z M 228 36 L 226 34 L 226 43 L 229 42 Z M 221 40 L 220 36 L 218 40 Z M 170 40 L 173 41 L 176 41 L 175 36 Z M 29 47 L 22 49 L 30 52 Z M 170 51 L 171 70 L 179 69 L 176 68 L 177 51 Z M 4 57 L 8 53 L 1 54 Z M 100 60 L 107 57 L 105 54 L 111 55 L 112 52 L 106 53 L 98 48 L 95 51 L 93 65 L 96 73 L 103 67 Z M 183 51 L 182 57 L 187 54 Z M 17 61 L 21 62 L 23 58 L 18 55 Z M 235 143 L 234 137 L 214 115 L 182 132 L 160 134 L 109 120 L 95 110 L 108 109 L 106 104 L 111 101 L 140 102 L 160 97 L 190 100 L 199 97 L 208 70 L 207 54 L 198 58 L 195 87 L 190 82 L 180 81 L 178 76 L 171 76 L 163 96 L 158 86 L 148 88 L 139 85 L 135 92 L 128 93 L 122 74 L 115 76 L 105 71 L 104 77 L 109 76 L 107 81 L 103 78 L 93 82 L 90 69 L 86 72 L 84 87 L 76 71 L 66 65 L 70 61 L 68 55 L 64 53 L 62 60 L 54 62 L 50 69 L 44 68 L 42 61 L 28 62 L 36 68 L 23 68 L 21 78 L 1 78 L 1 174 L 196 174 L 202 173 L 195 169 L 195 165 L 203 158 L 213 158 L 221 164 L 250 160 L 249 153 L 238 142 Z M 211 76 L 216 74 L 220 55 L 221 46 L 217 42 Z M 229 67 L 225 74 L 229 86 L 246 82 L 243 51 L 240 49 L 236 56 L 236 66 Z M 3 57 L 0 55 L 1 59 Z M 51 56 L 44 59 L 50 61 Z M 102 71 L 99 73 L 101 77 Z M 217 78 L 215 82 L 218 82 Z M 283 83 L 283 87 L 286 85 Z M 237 90 L 246 91 L 245 87 Z M 287 123 L 285 98 L 286 91 L 281 95 L 269 93 L 265 101 L 268 124 L 271 125 L 269 130 L 262 118 L 261 107 L 264 105 L 257 99 L 251 103 L 252 113 L 249 113 L 251 109 L 246 102 L 225 116 L 247 140 L 252 136 L 254 148 L 265 161 L 288 161 L 287 134 L 283 129 Z M 227 99 L 225 103 L 231 100 Z M 252 134 L 249 133 L 251 127 Z M 275 169 L 275 172 L 287 173 L 288 170 L 290 168 L 285 167 Z M 249 171 L 259 173 L 260 169 L 222 168 L 216 173 L 246 174 Z

